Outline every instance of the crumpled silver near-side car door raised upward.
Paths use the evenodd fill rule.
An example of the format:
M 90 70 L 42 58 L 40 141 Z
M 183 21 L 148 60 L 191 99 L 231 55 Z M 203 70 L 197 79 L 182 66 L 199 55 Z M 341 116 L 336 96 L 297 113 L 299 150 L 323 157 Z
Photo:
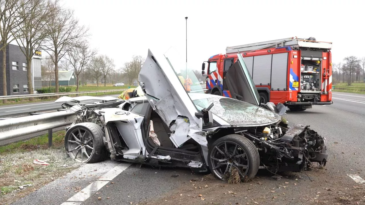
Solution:
M 181 75 L 187 76 L 186 73 Z M 202 119 L 195 116 L 199 111 L 185 91 L 180 77 L 168 57 L 159 58 L 157 62 L 156 56 L 148 50 L 138 81 L 151 107 L 172 131 L 170 140 L 176 147 L 182 146 L 190 138 L 202 147 L 207 147 Z

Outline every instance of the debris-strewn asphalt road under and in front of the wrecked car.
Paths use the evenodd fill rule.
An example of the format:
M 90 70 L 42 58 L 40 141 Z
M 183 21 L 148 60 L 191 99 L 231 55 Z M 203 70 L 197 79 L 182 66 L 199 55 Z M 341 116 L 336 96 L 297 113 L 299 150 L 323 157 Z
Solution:
M 203 174 L 195 174 L 186 169 L 128 166 L 105 161 L 81 165 L 80 169 L 49 183 L 14 204 L 253 204 L 253 201 L 245 201 L 253 199 L 260 204 L 336 204 L 328 200 L 339 200 L 337 204 L 343 204 L 346 201 L 341 201 L 341 197 L 354 197 L 352 195 L 357 192 L 357 187 L 360 187 L 360 190 L 364 189 L 361 188 L 361 183 L 365 181 L 360 180 L 365 179 L 365 103 L 362 103 L 364 98 L 364 95 L 336 92 L 333 93 L 333 105 L 316 105 L 303 112 L 287 113 L 289 124 L 310 125 L 327 139 L 326 169 L 306 171 L 312 181 L 303 173 L 288 173 L 288 178 L 279 181 L 271 179 L 270 174 L 260 174 L 254 182 L 238 186 L 242 191 L 235 190 L 237 198 L 226 200 L 224 197 L 227 195 L 223 192 L 237 186 L 212 179 L 211 183 L 215 186 L 205 188 L 202 185 L 203 189 L 197 189 L 206 195 L 207 200 L 201 201 L 200 197 L 197 197 L 196 202 L 191 202 L 189 200 L 193 199 L 193 195 L 186 195 L 186 192 L 196 190 L 188 189 L 187 186 L 191 186 L 192 179 L 197 180 L 193 183 L 200 183 Z M 172 177 L 176 174 L 179 176 Z M 348 174 L 356 175 L 360 179 L 355 181 Z M 81 187 L 82 190 L 79 193 L 70 192 L 69 187 Z M 222 197 L 216 194 L 217 189 L 222 189 L 218 191 Z M 271 189 L 271 192 L 267 191 L 268 189 Z M 214 193 L 211 198 L 210 193 Z M 362 197 L 365 193 L 360 195 Z M 189 198 L 183 198 L 185 196 Z M 76 201 L 75 197 L 83 197 L 83 201 L 72 202 Z M 98 197 L 101 197 L 100 200 Z M 327 202 L 321 203 L 320 200 Z M 355 203 L 355 199 L 352 202 Z

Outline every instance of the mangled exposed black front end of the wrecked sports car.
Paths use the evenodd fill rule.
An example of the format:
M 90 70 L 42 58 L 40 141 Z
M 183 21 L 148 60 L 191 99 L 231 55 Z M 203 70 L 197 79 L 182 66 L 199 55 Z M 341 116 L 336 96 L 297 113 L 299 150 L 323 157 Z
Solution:
M 241 132 L 241 135 L 254 142 L 260 153 L 261 164 L 273 173 L 306 170 L 312 166 L 312 162 L 326 165 L 325 138 L 309 126 L 289 128 L 285 125 L 280 123 L 278 126 L 252 128 Z

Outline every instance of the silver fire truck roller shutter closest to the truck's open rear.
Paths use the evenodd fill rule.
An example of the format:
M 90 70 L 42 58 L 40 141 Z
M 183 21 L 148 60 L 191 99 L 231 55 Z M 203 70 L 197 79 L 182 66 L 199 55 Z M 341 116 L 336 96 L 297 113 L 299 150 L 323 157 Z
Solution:
M 271 89 L 286 89 L 288 75 L 288 53 L 273 54 Z

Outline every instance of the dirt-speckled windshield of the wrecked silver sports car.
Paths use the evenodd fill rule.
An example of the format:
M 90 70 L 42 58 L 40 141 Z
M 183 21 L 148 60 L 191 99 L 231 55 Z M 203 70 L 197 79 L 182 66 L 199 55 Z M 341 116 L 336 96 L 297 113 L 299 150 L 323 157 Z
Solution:
M 206 108 L 214 103 L 210 111 L 231 125 L 260 125 L 280 120 L 279 115 L 247 102 L 223 96 L 204 95 L 205 97 L 192 96 L 197 109 Z

